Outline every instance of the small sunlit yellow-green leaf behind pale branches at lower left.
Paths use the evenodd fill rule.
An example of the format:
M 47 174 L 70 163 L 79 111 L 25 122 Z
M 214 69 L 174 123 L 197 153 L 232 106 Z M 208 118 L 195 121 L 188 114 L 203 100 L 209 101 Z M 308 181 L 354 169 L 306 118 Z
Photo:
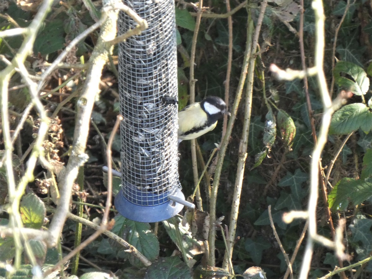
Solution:
M 22 198 L 19 208 L 23 225 L 26 228 L 41 228 L 45 218 L 45 205 L 34 193 Z

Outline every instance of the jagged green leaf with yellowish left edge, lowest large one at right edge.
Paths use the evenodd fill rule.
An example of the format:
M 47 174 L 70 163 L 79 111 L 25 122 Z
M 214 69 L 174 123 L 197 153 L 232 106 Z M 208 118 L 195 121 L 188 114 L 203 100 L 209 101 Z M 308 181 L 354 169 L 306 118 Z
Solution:
M 363 179 L 344 177 L 328 194 L 328 206 L 332 211 L 344 211 L 349 202 L 354 205 L 362 203 L 372 196 L 372 183 Z

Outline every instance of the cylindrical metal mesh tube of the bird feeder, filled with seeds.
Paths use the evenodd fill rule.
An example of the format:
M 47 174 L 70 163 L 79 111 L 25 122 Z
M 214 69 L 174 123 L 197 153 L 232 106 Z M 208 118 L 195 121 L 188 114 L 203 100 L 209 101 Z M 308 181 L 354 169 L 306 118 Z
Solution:
M 123 194 L 137 205 L 168 201 L 178 180 L 176 23 L 173 0 L 124 1 L 148 29 L 119 45 Z M 125 13 L 119 34 L 135 28 Z

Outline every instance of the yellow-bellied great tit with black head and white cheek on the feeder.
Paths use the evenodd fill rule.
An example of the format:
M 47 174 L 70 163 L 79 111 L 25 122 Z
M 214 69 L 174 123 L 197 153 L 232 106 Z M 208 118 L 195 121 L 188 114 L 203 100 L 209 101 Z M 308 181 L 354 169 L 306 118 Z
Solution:
M 224 100 L 216 96 L 208 96 L 200 103 L 186 106 L 178 112 L 178 143 L 212 131 L 224 114 L 230 116 Z

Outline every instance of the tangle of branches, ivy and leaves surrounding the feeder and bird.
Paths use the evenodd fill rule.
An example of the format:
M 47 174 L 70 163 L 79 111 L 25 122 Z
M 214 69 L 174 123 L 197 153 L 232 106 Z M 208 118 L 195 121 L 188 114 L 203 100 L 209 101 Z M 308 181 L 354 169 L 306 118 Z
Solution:
M 115 39 L 119 9 L 138 27 Z M 0 1 L 0 276 L 371 278 L 371 18 L 368 0 L 176 1 L 179 108 L 215 95 L 232 116 L 180 145 L 198 211 L 145 224 L 102 172 L 120 164 L 117 42 L 145 22 L 118 1 Z

